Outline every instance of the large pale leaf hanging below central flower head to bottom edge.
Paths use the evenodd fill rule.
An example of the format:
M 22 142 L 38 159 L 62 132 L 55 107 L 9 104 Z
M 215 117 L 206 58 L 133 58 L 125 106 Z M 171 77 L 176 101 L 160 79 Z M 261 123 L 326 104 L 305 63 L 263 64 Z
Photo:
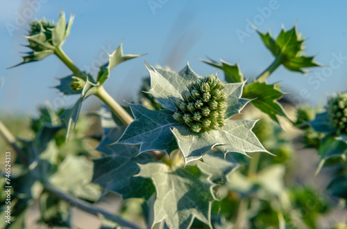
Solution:
M 196 166 L 169 167 L 164 163 L 139 165 L 138 176 L 151 178 L 157 196 L 153 225 L 163 221 L 168 228 L 189 228 L 194 218 L 211 226 L 211 204 L 214 201 L 210 175 Z

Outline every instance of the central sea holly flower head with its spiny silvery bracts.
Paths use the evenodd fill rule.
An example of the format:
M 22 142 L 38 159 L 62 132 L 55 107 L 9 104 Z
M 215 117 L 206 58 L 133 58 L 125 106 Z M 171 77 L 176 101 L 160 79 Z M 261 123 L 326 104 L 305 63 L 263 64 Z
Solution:
M 223 84 L 217 76 L 197 75 L 189 65 L 179 73 L 152 66 L 148 70 L 149 93 L 164 109 L 129 104 L 135 120 L 116 143 L 140 145 L 139 154 L 180 149 L 186 164 L 214 147 L 224 154 L 266 152 L 252 132 L 256 121 L 229 119 L 249 102 L 241 98 L 244 82 Z

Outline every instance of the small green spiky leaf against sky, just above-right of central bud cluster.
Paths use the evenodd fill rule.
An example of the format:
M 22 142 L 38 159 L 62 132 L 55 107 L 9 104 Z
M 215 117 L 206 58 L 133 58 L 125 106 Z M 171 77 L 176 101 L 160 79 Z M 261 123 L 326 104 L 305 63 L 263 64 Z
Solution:
M 219 59 L 221 64 L 214 61 L 213 59 L 204 60 L 204 59 L 198 59 L 201 62 L 204 62 L 205 64 L 209 64 L 211 66 L 214 66 L 216 68 L 219 68 L 223 70 L 224 77 L 226 82 L 228 83 L 238 83 L 238 82 L 244 82 L 244 74 L 239 70 L 239 64 L 229 64 L 228 62 L 223 61 L 223 59 Z

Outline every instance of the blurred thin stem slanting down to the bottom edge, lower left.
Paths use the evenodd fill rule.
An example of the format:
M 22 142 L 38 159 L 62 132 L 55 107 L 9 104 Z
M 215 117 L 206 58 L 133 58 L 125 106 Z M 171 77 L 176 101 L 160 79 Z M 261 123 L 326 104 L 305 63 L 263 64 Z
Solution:
M 44 188 L 51 192 L 52 194 L 55 194 L 60 199 L 66 201 L 67 203 L 75 206 L 76 208 L 79 208 L 85 212 L 89 212 L 90 214 L 94 214 L 95 216 L 99 217 L 99 214 L 102 214 L 103 217 L 110 219 L 112 221 L 115 221 L 119 224 L 119 226 L 124 226 L 127 228 L 133 228 L 133 229 L 140 229 L 138 226 L 136 226 L 133 223 L 130 223 L 129 221 L 126 221 L 124 219 L 121 219 L 121 217 L 112 214 L 106 210 L 103 210 L 101 208 L 98 208 L 90 203 L 87 203 L 86 201 L 82 201 L 81 199 L 76 199 L 76 197 L 71 196 L 70 194 L 67 194 L 65 192 L 62 192 L 58 190 L 56 187 L 51 185 L 50 183 L 46 182 L 44 183 Z

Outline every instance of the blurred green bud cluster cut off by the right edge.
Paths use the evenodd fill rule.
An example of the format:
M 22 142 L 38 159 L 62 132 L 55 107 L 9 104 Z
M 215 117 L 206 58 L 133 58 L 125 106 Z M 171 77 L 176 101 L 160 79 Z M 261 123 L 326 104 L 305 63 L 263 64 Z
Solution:
M 337 134 L 347 134 L 347 93 L 330 97 L 326 109 Z

